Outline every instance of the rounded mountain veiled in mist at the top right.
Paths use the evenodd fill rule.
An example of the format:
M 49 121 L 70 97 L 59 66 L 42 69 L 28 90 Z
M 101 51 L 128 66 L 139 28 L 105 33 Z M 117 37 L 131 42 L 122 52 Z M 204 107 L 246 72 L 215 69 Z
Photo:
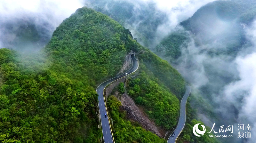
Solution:
M 196 36 L 197 44 L 215 44 L 218 51 L 214 52 L 217 54 L 236 54 L 246 44 L 244 25 L 253 22 L 256 13 L 250 12 L 255 10 L 255 5 L 251 3 L 214 1 L 201 7 L 180 25 Z

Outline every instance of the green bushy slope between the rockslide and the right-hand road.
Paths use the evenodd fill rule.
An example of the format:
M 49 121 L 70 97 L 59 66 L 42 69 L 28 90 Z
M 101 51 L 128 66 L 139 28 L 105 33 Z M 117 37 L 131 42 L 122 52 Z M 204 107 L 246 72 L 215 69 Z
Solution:
M 138 75 L 128 80 L 127 92 L 143 107 L 156 125 L 165 130 L 171 130 L 176 126 L 180 112 L 179 100 L 152 71 L 146 68 L 144 60 L 140 60 Z

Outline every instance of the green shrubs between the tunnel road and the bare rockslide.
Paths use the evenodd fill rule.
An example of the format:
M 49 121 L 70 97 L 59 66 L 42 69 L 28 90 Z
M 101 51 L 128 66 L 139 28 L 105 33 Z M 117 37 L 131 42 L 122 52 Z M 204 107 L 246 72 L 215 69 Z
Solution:
M 113 134 L 116 143 L 166 143 L 163 138 L 126 120 L 126 112 L 119 109 L 121 102 L 116 97 L 109 96 L 107 106 L 114 125 Z

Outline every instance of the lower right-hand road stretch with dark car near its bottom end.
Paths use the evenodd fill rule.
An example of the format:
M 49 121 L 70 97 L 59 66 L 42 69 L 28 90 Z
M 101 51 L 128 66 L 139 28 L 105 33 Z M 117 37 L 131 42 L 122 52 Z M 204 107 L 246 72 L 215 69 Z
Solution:
M 177 138 L 179 137 L 181 131 L 183 130 L 185 123 L 186 123 L 186 103 L 187 103 L 187 99 L 188 99 L 188 95 L 191 92 L 191 88 L 189 85 L 186 85 L 186 93 L 184 94 L 183 98 L 181 99 L 180 102 L 180 119 L 179 119 L 179 123 L 176 127 L 176 129 L 173 131 L 172 134 L 174 134 L 174 136 L 172 136 L 172 134 L 170 135 L 170 137 L 167 140 L 167 143 L 176 143 Z

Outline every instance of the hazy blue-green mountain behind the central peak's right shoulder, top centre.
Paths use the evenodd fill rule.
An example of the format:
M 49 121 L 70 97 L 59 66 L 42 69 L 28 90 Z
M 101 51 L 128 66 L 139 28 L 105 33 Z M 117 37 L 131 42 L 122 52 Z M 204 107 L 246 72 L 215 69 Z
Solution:
M 129 28 L 140 44 L 151 47 L 155 44 L 157 27 L 168 19 L 164 12 L 156 8 L 153 2 L 138 1 L 100 1 L 89 0 L 89 7 L 102 12 L 124 27 Z

